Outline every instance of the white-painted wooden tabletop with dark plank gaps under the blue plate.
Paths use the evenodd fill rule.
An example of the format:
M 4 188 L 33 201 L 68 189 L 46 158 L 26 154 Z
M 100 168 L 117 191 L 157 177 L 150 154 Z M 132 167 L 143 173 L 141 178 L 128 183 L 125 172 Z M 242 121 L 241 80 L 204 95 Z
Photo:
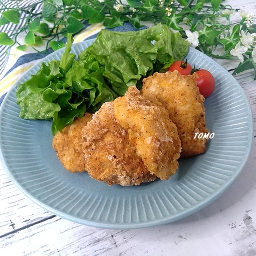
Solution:
M 255 0 L 228 0 L 226 3 L 256 13 Z M 216 61 L 227 70 L 236 65 L 234 61 Z M 236 79 L 248 97 L 256 127 L 253 76 L 252 72 L 245 72 Z M 76 224 L 37 206 L 16 188 L 0 163 L 0 256 L 255 256 L 255 166 L 256 138 L 240 176 L 206 208 L 164 226 L 109 230 Z

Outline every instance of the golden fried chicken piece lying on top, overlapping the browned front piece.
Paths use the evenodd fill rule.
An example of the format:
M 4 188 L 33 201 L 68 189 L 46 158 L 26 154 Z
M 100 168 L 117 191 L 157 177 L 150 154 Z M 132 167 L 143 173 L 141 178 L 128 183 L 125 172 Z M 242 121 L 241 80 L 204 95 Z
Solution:
M 181 144 L 168 111 L 146 101 L 135 86 L 114 100 L 113 106 L 117 122 L 127 130 L 129 141 L 150 173 L 161 180 L 175 174 Z

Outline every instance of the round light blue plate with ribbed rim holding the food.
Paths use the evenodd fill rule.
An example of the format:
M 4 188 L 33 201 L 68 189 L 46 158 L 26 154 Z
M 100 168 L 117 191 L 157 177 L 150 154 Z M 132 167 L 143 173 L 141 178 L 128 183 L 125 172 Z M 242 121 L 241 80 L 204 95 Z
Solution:
M 92 40 L 73 46 L 79 54 Z M 60 58 L 58 50 L 30 68 L 6 95 L 0 109 L 1 160 L 16 186 L 46 210 L 73 222 L 104 228 L 142 228 L 184 218 L 210 204 L 242 171 L 252 145 L 252 112 L 238 82 L 220 65 L 190 48 L 188 62 L 212 72 L 214 93 L 206 99 L 206 122 L 213 139 L 204 154 L 180 160 L 177 174 L 140 186 L 109 187 L 87 173 L 72 174 L 51 146 L 51 122 L 18 117 L 16 87 L 42 62 Z

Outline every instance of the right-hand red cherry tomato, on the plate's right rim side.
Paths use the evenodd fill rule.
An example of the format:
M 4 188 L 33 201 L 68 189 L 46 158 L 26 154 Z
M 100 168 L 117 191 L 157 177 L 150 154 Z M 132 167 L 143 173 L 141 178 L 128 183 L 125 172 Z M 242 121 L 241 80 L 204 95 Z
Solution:
M 195 72 L 198 75 L 196 79 L 200 94 L 204 98 L 210 96 L 215 88 L 215 81 L 213 75 L 206 69 L 200 69 Z

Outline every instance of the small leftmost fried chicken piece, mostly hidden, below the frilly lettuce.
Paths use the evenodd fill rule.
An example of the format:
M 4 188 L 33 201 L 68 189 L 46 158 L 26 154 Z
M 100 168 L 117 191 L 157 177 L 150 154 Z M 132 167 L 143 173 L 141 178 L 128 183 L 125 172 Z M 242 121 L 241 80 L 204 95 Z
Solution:
M 70 172 L 85 172 L 86 162 L 82 154 L 82 128 L 92 119 L 92 114 L 85 113 L 82 118 L 63 128 L 52 139 L 52 147 L 62 165 Z

